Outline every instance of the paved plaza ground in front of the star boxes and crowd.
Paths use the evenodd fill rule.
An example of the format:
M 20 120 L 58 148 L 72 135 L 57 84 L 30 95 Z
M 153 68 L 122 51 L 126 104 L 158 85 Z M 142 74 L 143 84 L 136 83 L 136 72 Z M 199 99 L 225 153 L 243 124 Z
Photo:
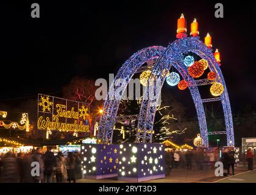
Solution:
M 231 171 L 231 170 L 230 170 Z M 235 176 L 230 177 L 216 177 L 214 175 L 214 169 L 205 167 L 203 170 L 186 170 L 183 168 L 172 169 L 170 176 L 166 176 L 165 179 L 150 180 L 141 183 L 239 183 L 239 182 L 254 182 L 256 183 L 256 170 L 247 171 L 246 166 L 235 167 Z M 122 183 L 117 178 L 111 179 L 80 179 L 79 183 Z

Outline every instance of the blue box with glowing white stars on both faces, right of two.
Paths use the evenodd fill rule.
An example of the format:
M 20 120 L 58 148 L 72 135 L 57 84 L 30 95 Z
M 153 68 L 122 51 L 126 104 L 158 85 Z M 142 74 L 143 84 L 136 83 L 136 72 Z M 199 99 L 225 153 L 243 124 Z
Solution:
M 164 144 L 120 144 L 118 159 L 118 180 L 141 182 L 165 177 Z

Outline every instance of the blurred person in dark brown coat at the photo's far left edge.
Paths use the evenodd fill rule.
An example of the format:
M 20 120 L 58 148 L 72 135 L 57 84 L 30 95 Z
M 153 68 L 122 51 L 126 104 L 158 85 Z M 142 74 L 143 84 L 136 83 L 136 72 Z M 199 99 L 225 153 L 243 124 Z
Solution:
M 18 162 L 11 152 L 7 152 L 1 160 L 2 166 L 2 182 L 4 183 L 18 183 L 20 176 L 18 172 Z

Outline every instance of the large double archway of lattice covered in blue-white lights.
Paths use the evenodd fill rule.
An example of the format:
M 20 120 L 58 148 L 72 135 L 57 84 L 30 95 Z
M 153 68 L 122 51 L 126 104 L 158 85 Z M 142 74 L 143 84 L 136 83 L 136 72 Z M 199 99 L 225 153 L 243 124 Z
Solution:
M 179 74 L 181 74 L 183 79 L 187 80 L 189 83 L 188 87 L 192 95 L 195 108 L 197 110 L 200 133 L 201 137 L 203 138 L 203 146 L 208 147 L 208 129 L 206 125 L 205 111 L 203 109 L 203 102 L 211 100 L 208 99 L 202 101 L 197 87 L 198 80 L 194 80 L 191 76 L 189 76 L 187 72 L 188 68 L 183 63 L 183 54 L 187 52 L 193 52 L 199 55 L 201 59 L 207 60 L 209 63 L 209 69 L 214 71 L 214 73 L 217 75 L 216 81 L 222 83 L 224 86 L 224 93 L 221 94 L 220 98 L 212 99 L 212 101 L 220 100 L 222 102 L 225 116 L 225 132 L 227 133 L 227 146 L 233 146 L 234 133 L 232 113 L 224 77 L 222 76 L 216 59 L 214 59 L 214 55 L 211 49 L 207 48 L 206 45 L 197 37 L 186 37 L 178 39 L 173 41 L 173 43 L 170 43 L 167 48 L 153 46 L 141 49 L 141 51 L 138 51 L 132 55 L 132 57 L 130 57 L 130 59 L 128 59 L 124 65 L 121 66 L 118 74 L 115 77 L 115 80 L 126 80 L 126 85 L 123 85 L 121 90 L 119 88 L 119 91 L 121 91 L 122 94 L 124 93 L 124 90 L 127 87 L 127 83 L 129 83 L 129 80 L 137 72 L 138 68 L 143 65 L 143 63 L 147 62 L 148 60 L 158 58 L 151 72 L 151 74 L 154 74 L 156 78 L 154 87 L 147 91 L 148 94 L 154 93 L 156 96 L 154 101 L 158 102 L 160 90 L 156 90 L 156 80 L 160 80 L 160 86 L 162 88 L 166 78 L 166 74 L 162 73 L 167 73 L 168 71 L 166 70 L 169 70 L 171 66 L 174 66 L 178 70 Z M 118 107 L 120 104 L 119 100 L 114 99 L 116 89 L 116 86 L 114 85 L 115 80 L 111 85 L 113 90 L 110 90 L 108 93 L 107 100 L 104 104 L 104 113 L 100 118 L 99 133 L 97 137 L 99 140 L 102 140 L 102 143 L 112 143 L 113 126 L 115 124 L 116 113 L 118 112 Z M 145 99 L 147 96 L 147 94 L 143 96 L 144 99 L 141 102 L 140 116 L 138 118 L 137 141 L 143 143 L 152 141 L 152 129 L 154 126 L 154 116 L 156 113 L 156 107 L 151 106 L 152 102 Z

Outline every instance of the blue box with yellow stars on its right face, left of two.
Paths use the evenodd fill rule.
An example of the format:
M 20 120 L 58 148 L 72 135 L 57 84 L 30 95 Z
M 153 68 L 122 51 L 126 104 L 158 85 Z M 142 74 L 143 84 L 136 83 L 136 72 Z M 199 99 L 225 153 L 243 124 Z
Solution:
M 85 178 L 118 176 L 118 145 L 81 144 L 81 171 Z

